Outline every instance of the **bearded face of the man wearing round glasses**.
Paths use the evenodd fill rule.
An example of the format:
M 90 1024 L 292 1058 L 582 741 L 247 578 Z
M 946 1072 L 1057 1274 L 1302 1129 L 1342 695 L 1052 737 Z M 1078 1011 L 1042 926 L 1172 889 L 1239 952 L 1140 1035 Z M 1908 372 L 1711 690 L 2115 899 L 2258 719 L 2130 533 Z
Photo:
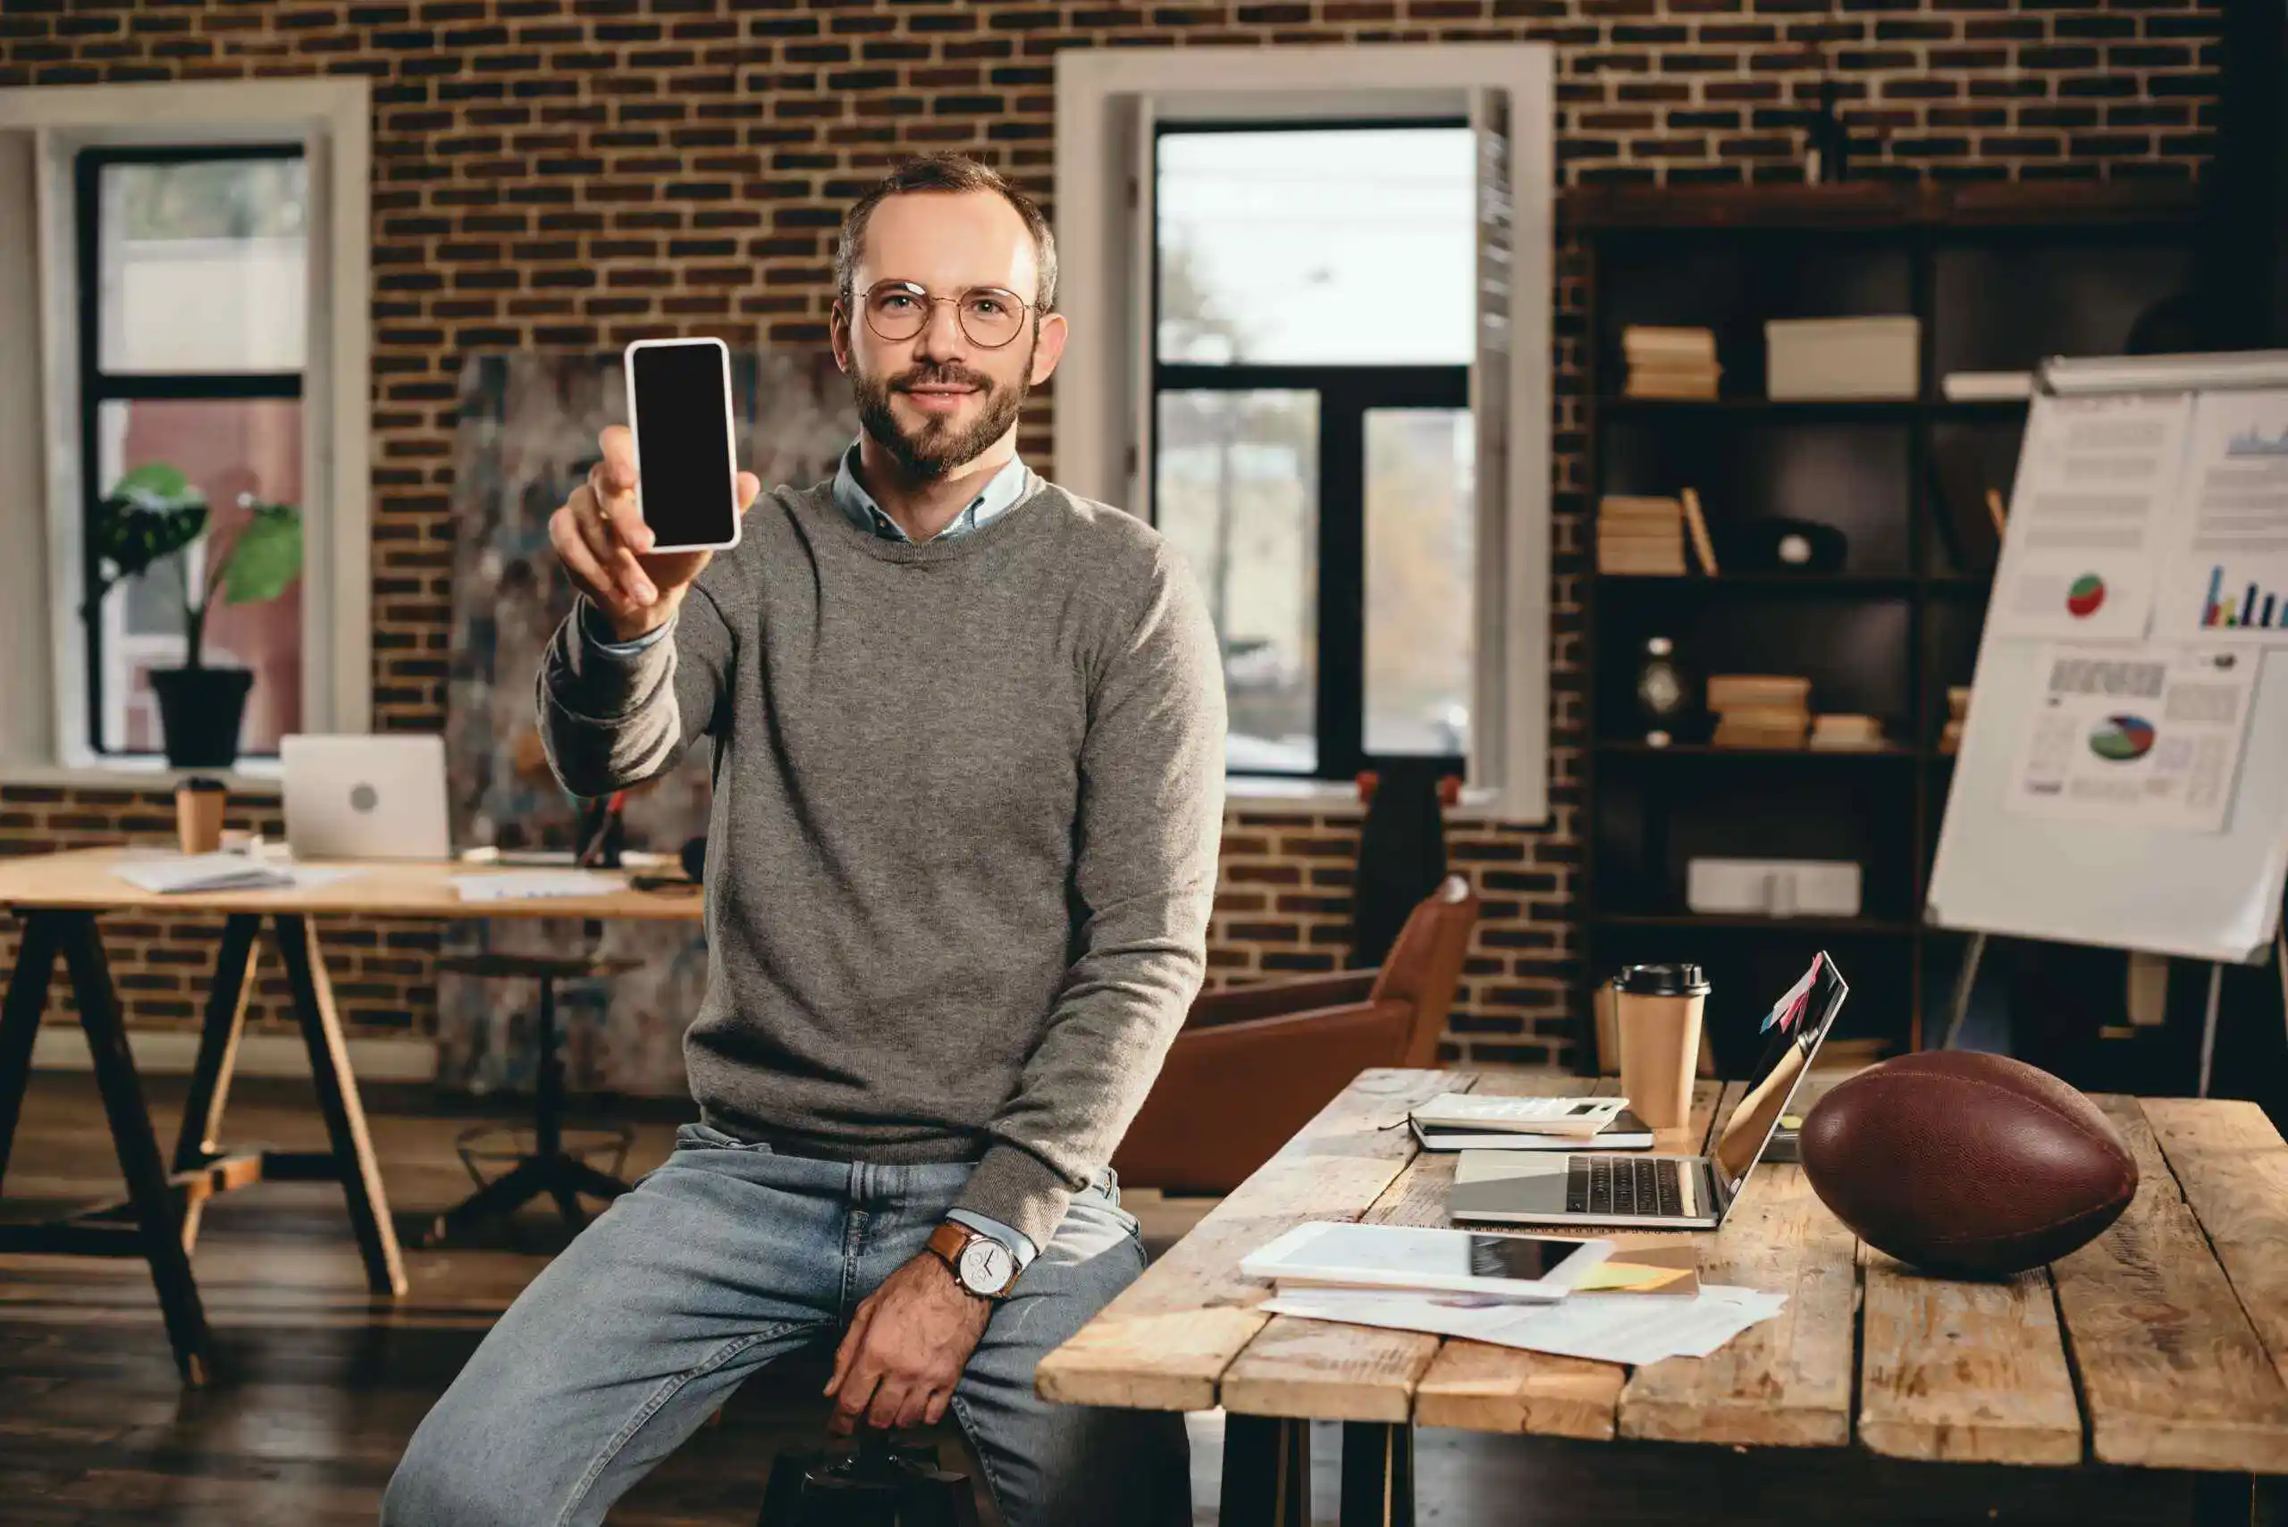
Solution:
M 835 309 L 835 361 L 851 377 L 858 423 L 906 475 L 952 475 L 1016 427 L 1025 393 L 1057 368 L 1064 318 L 1027 315 L 1016 338 L 986 347 L 961 329 L 952 302 L 931 302 L 920 334 L 885 341 L 865 320 L 881 281 L 913 281 L 931 297 L 998 286 L 1032 302 L 1032 233 L 993 192 L 890 197 L 867 222 L 853 295 Z

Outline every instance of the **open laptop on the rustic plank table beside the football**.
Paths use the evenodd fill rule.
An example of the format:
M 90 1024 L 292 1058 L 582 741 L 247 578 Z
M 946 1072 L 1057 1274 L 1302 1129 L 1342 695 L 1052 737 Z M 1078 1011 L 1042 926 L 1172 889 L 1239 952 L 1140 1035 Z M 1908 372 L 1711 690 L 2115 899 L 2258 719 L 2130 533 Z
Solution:
M 1464 1150 L 1448 1214 L 1510 1225 L 1622 1225 L 1714 1230 L 1732 1214 L 1748 1173 L 1764 1159 L 1789 1097 L 1835 1026 L 1851 988 L 1828 953 L 1764 1017 L 1764 1054 L 1748 1090 L 1705 1157 L 1608 1152 Z

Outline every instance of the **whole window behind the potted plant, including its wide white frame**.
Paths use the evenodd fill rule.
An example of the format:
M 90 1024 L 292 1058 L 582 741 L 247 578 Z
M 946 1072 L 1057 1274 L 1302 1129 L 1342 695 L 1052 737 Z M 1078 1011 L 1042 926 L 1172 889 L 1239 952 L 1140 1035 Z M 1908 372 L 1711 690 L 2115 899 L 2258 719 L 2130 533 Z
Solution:
M 0 663 L 0 777 L 165 768 L 149 674 L 249 514 L 252 597 L 201 631 L 256 674 L 240 773 L 371 727 L 371 121 L 364 78 L 0 91 L 0 350 L 34 382 L 0 389 L 0 533 L 27 551 L 0 558 L 0 645 L 48 654 Z M 130 473 L 181 473 L 213 523 L 92 601 Z

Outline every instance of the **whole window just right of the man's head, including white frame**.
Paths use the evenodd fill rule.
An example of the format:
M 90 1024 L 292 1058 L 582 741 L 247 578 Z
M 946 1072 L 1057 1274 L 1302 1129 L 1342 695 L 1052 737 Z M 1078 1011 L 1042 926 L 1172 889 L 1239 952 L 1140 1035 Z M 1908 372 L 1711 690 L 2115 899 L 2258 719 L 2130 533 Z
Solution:
M 1547 821 L 1554 48 L 1055 69 L 1057 478 L 1197 569 L 1231 793 L 1414 754 Z

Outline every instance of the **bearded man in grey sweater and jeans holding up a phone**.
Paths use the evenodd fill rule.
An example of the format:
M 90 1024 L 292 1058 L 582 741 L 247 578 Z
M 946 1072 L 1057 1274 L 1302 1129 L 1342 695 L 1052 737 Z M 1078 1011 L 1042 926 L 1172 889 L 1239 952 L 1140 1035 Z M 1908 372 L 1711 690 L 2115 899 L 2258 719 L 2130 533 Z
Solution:
M 391 1527 L 602 1522 L 837 1333 L 831 1426 L 952 1408 L 1011 1527 L 1190 1522 L 1181 1417 L 1032 1392 L 1144 1266 L 1105 1161 L 1201 983 L 1224 741 L 1174 549 L 1016 455 L 1055 283 L 1020 192 L 906 165 L 842 231 L 835 482 L 741 473 L 734 551 L 650 553 L 613 427 L 549 521 L 558 780 L 714 743 L 700 1122 L 485 1337 Z

